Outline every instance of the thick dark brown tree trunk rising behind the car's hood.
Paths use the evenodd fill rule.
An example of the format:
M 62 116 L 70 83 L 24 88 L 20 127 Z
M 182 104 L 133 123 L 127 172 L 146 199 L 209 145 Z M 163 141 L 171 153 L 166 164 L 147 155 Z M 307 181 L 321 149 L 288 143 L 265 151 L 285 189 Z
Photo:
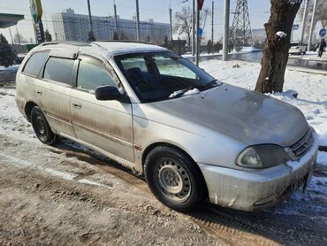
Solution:
M 255 91 L 262 93 L 283 91 L 293 21 L 301 2 L 302 0 L 270 0 L 270 19 L 264 24 L 267 37 L 261 62 L 262 69 L 256 81 Z M 283 36 L 283 33 L 286 35 Z

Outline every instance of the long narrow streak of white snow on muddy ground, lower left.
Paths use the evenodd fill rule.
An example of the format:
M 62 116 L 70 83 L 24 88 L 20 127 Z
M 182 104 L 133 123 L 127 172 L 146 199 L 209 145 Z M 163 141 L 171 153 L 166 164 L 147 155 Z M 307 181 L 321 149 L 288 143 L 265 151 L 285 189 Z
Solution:
M 8 156 L 8 155 L 5 155 L 3 153 L 0 153 L 0 156 L 11 160 L 11 163 L 13 165 L 16 165 L 16 166 L 19 166 L 19 167 L 22 167 L 22 168 L 34 167 L 34 168 L 42 171 L 42 173 L 47 173 L 47 174 L 50 174 L 52 176 L 62 178 L 64 180 L 66 180 L 66 181 L 75 181 L 74 179 L 78 176 L 78 174 L 62 172 L 62 171 L 58 171 L 58 170 L 55 170 L 55 169 L 52 169 L 52 168 L 49 168 L 49 167 L 44 167 L 42 165 L 36 165 L 36 164 L 34 164 L 32 162 L 29 162 L 27 160 L 24 160 L 24 159 L 21 159 L 21 158 L 15 158 L 15 157 L 12 157 L 12 156 Z M 81 180 L 78 180 L 78 181 L 75 181 L 75 182 L 88 184 L 88 185 L 96 185 L 96 186 L 100 186 L 100 187 L 104 187 L 104 188 L 113 189 L 113 187 L 110 187 L 108 185 L 104 185 L 102 183 L 98 183 L 98 182 L 95 182 L 95 181 L 89 181 L 87 179 L 81 179 Z

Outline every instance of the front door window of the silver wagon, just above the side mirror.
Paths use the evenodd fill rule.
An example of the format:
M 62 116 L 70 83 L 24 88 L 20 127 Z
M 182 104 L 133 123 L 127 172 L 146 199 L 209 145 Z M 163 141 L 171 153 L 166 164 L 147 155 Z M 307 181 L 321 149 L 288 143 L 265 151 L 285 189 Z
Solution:
M 91 90 L 104 85 L 117 87 L 110 71 L 103 67 L 102 62 L 81 60 L 77 75 L 77 88 Z

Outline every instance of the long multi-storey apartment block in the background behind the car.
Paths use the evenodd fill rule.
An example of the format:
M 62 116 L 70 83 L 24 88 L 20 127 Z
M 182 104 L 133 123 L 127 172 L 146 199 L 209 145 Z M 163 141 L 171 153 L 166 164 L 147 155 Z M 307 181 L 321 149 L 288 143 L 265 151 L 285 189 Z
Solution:
M 88 15 L 75 14 L 70 8 L 63 12 L 53 14 L 52 22 L 57 41 L 87 41 L 91 30 Z M 136 19 L 120 19 L 117 17 L 118 36 L 136 40 Z M 113 39 L 115 33 L 115 18 L 92 16 L 92 24 L 96 40 Z M 153 19 L 140 21 L 141 41 L 151 40 L 161 42 L 164 36 L 170 37 L 170 25 L 155 22 Z

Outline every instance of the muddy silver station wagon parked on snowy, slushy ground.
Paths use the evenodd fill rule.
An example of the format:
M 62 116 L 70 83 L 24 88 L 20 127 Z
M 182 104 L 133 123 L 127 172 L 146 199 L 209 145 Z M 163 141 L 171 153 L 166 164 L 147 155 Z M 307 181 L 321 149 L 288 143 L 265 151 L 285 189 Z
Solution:
M 177 211 L 241 211 L 306 188 L 318 137 L 299 109 L 140 42 L 45 42 L 19 67 L 16 103 L 45 144 L 80 142 L 144 175 Z

